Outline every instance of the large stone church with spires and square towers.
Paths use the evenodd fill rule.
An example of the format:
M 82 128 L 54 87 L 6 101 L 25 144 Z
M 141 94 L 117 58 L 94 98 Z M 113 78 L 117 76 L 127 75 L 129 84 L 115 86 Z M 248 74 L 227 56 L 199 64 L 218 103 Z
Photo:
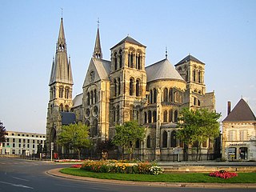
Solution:
M 146 46 L 130 36 L 110 51 L 110 61 L 103 59 L 98 29 L 82 94 L 72 99 L 74 82 L 61 18 L 49 83 L 48 150 L 54 142 L 54 152 L 65 153 L 56 144 L 62 125 L 83 122 L 90 126 L 96 146 L 114 137 L 115 125 L 136 120 L 146 127 L 146 138 L 136 142 L 135 158 L 172 160 L 175 149 L 182 154 L 184 143 L 175 137 L 179 111 L 182 107 L 215 110 L 214 92 L 206 93 L 205 63 L 188 55 L 173 66 L 166 53 L 166 58 L 146 65 Z M 211 149 L 214 154 L 214 146 L 214 142 L 203 142 L 202 153 Z

